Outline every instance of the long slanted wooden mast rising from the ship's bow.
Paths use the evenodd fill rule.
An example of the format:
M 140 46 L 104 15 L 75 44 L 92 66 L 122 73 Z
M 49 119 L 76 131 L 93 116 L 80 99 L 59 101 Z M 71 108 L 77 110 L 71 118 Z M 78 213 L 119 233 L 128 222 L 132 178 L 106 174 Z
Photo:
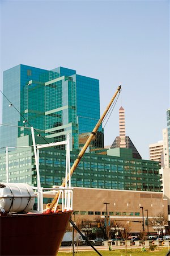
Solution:
M 92 138 L 94 138 L 94 136 L 96 135 L 96 131 L 99 129 L 99 127 L 100 127 L 100 125 L 101 125 L 101 123 L 102 123 L 102 121 L 103 121 L 105 115 L 107 114 L 109 108 L 111 107 L 111 105 L 112 105 L 112 103 L 113 103 L 113 101 L 114 101 L 114 98 L 116 98 L 118 92 L 120 93 L 120 91 L 121 91 L 121 85 L 118 86 L 118 88 L 117 88 L 117 90 L 116 90 L 116 93 L 114 93 L 114 96 L 112 97 L 112 100 L 110 101 L 109 105 L 107 106 L 105 112 L 104 112 L 103 115 L 100 117 L 100 119 L 99 119 L 99 121 L 97 122 L 97 124 L 96 124 L 94 130 L 92 130 L 92 132 L 91 132 L 90 136 L 88 137 L 86 143 L 84 144 L 82 150 L 79 152 L 77 158 L 75 159 L 75 162 L 74 162 L 73 166 L 72 166 L 71 169 L 70 169 L 70 175 L 71 175 L 71 176 L 73 175 L 73 172 L 75 171 L 75 169 L 76 169 L 76 167 L 78 166 L 80 160 L 82 159 L 82 156 L 84 155 L 84 152 L 86 152 L 87 147 L 89 146 L 90 142 L 92 141 Z M 68 179 L 69 179 L 69 177 L 67 176 L 67 180 L 68 180 Z M 65 187 L 65 184 L 66 184 L 66 183 L 65 183 L 65 180 L 66 180 L 66 178 L 63 180 L 63 182 L 62 182 L 62 184 L 61 184 L 62 187 Z M 50 210 L 53 209 L 54 205 L 55 205 L 56 202 L 57 202 L 58 196 L 59 196 L 59 192 L 56 193 L 56 195 L 55 195 L 55 197 L 54 197 L 52 203 L 49 205 L 48 210 L 46 210 L 46 213 L 50 212 Z

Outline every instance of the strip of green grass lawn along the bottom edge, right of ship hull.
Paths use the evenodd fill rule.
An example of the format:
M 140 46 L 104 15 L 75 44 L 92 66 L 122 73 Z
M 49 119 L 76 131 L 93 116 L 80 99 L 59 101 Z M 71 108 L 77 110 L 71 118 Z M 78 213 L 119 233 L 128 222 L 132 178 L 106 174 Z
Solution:
M 113 250 L 113 251 L 99 251 L 102 256 L 125 256 L 125 250 Z M 144 251 L 142 252 L 141 249 L 128 249 L 128 256 L 165 256 L 168 253 L 168 248 L 159 248 L 154 251 Z M 71 256 L 73 253 L 58 253 L 57 256 Z M 75 256 L 97 256 L 95 251 L 78 251 L 75 252 Z

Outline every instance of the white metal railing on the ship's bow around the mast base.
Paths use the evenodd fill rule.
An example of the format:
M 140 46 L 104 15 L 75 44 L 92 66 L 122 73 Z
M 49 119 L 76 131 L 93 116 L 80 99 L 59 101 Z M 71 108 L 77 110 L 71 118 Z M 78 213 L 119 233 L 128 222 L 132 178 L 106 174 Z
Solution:
M 73 188 L 65 188 L 65 187 L 57 187 L 53 186 L 52 188 L 37 188 L 32 187 L 34 189 L 35 195 L 37 195 L 37 201 L 40 203 L 39 205 L 39 212 L 43 212 L 45 209 L 43 207 L 43 199 L 48 198 L 45 196 L 54 196 L 57 192 L 59 192 L 58 200 L 55 204 L 55 207 L 53 209 L 53 212 L 57 212 L 58 208 L 62 212 L 73 210 Z M 40 198 L 39 198 L 40 197 Z M 61 202 L 59 201 L 61 199 Z

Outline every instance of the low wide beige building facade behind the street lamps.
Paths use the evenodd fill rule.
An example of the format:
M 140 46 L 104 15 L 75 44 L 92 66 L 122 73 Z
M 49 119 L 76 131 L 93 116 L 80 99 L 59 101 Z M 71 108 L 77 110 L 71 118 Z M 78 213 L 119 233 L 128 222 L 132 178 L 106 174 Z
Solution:
M 146 210 L 148 210 L 148 220 L 152 220 L 160 212 L 164 212 L 168 217 L 167 199 L 163 199 L 162 192 L 75 187 L 73 197 L 75 221 L 95 221 L 96 218 L 106 216 L 104 203 L 109 203 L 107 208 L 110 218 L 119 224 L 129 222 L 131 232 L 134 233 L 140 233 L 143 229 L 140 207 L 143 207 L 144 222 L 147 217 Z M 150 233 L 155 232 L 151 226 L 148 229 Z M 146 225 L 145 232 L 147 232 Z

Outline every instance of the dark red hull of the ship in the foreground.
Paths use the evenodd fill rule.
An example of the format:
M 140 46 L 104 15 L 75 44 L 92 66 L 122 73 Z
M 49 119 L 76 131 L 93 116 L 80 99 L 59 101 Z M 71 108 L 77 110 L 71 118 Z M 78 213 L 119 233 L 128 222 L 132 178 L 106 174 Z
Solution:
M 0 255 L 55 255 L 70 212 L 1 216 Z

